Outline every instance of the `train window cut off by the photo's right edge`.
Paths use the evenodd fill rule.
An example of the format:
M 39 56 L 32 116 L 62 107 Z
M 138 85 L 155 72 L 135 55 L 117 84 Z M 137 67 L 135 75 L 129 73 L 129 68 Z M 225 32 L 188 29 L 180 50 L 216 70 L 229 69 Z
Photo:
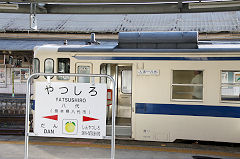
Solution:
M 240 101 L 240 71 L 221 72 L 221 100 Z

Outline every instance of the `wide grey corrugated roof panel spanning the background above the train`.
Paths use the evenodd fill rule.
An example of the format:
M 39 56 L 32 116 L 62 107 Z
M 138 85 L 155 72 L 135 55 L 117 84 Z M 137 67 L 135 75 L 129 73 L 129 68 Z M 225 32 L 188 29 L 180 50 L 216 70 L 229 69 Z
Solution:
M 39 32 L 199 31 L 239 32 L 240 11 L 184 14 L 38 14 Z M 0 31 L 29 30 L 28 14 L 0 13 Z

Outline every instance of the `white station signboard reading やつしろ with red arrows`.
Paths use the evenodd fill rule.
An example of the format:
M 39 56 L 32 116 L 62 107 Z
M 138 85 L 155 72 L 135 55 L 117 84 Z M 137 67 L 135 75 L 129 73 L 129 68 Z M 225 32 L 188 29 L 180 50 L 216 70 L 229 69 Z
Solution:
M 37 136 L 102 139 L 106 136 L 106 84 L 37 82 Z

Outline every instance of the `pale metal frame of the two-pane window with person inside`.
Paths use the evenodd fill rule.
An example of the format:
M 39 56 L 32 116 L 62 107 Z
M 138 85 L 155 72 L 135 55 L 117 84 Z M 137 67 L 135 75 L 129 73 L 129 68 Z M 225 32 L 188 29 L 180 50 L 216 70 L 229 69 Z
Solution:
M 203 82 L 202 84 L 174 84 L 173 72 L 174 71 L 202 71 Z M 171 83 L 170 83 L 170 101 L 177 102 L 203 102 L 204 101 L 204 69 L 172 69 L 171 70 Z M 202 86 L 202 99 L 173 99 L 173 86 Z

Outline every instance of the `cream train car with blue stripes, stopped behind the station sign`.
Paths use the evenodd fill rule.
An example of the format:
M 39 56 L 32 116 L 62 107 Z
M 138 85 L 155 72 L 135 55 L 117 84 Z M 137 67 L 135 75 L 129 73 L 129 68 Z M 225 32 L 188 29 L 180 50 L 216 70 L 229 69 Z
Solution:
M 237 42 L 199 42 L 197 32 L 125 32 L 116 44 L 35 47 L 34 72 L 111 75 L 117 83 L 119 137 L 240 143 Z M 52 81 L 91 80 L 59 76 Z M 114 89 L 104 78 L 95 82 Z M 106 109 L 111 112 L 111 103 Z M 106 120 L 109 134 L 110 113 Z

